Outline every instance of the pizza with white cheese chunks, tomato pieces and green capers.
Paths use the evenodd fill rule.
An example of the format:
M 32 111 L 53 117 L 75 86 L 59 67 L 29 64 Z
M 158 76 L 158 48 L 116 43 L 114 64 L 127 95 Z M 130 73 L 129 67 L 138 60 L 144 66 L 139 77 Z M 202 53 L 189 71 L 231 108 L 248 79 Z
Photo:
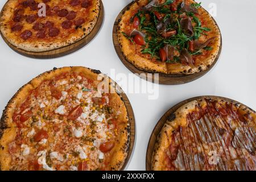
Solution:
M 130 141 L 127 110 L 116 92 L 97 90 L 99 73 L 64 67 L 24 85 L 3 111 L 0 169 L 121 169 Z

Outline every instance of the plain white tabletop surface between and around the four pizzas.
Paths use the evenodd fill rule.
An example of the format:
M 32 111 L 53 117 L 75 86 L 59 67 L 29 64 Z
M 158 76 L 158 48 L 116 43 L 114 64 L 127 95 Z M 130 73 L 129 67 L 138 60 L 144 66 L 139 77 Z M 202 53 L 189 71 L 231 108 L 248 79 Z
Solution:
M 19 55 L 0 40 L 0 110 L 3 110 L 15 92 L 35 76 L 53 67 L 81 65 L 100 69 L 110 74 L 131 72 L 115 53 L 112 42 L 113 24 L 119 11 L 128 0 L 102 0 L 105 20 L 96 38 L 79 51 L 51 60 L 36 60 Z M 1 0 L 0 7 L 5 3 Z M 255 0 L 204 0 L 209 10 L 216 3 L 214 17 L 222 33 L 222 52 L 212 71 L 199 80 L 184 85 L 155 85 L 159 89 L 157 100 L 148 100 L 150 94 L 127 93 L 133 106 L 136 121 L 136 142 L 133 156 L 126 169 L 144 170 L 148 139 L 162 115 L 180 101 L 201 95 L 232 98 L 256 109 L 256 1 Z M 137 81 L 141 80 L 136 78 Z M 118 82 L 118 81 L 117 81 Z M 146 82 L 146 81 L 142 81 Z

